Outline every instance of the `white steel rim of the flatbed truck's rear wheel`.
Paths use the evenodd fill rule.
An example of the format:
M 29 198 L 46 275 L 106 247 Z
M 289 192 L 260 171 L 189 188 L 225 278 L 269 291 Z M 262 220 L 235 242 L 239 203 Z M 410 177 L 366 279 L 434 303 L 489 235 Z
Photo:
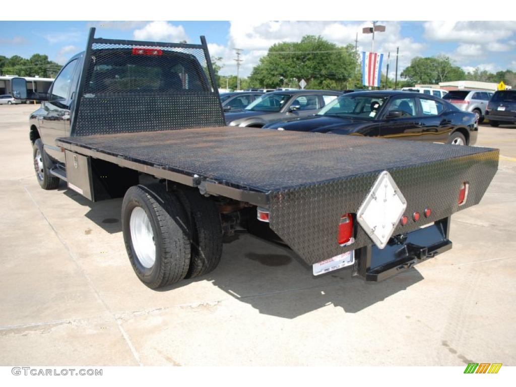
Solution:
M 133 208 L 129 228 L 136 258 L 143 267 L 151 268 L 156 262 L 156 245 L 151 221 L 143 208 Z

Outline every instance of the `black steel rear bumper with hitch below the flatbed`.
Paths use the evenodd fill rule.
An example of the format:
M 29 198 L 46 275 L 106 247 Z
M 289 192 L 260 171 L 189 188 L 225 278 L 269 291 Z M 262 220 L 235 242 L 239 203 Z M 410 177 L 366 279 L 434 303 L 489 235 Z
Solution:
M 382 250 L 376 246 L 357 250 L 354 274 L 366 281 L 378 282 L 450 250 L 449 223 L 450 217 L 429 227 L 393 237 Z

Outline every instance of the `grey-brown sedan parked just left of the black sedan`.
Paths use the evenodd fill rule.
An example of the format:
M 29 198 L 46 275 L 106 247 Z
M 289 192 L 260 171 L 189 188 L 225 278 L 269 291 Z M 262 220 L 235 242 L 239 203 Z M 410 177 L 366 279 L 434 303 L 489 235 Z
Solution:
M 225 114 L 230 126 L 262 127 L 284 118 L 313 116 L 342 93 L 327 90 L 273 91 L 254 100 L 244 110 Z

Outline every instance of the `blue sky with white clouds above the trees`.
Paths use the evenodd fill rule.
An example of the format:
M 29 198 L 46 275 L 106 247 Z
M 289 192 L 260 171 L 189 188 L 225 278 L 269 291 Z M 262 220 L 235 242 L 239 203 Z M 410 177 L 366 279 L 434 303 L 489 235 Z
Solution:
M 267 49 L 281 41 L 320 35 L 338 45 L 353 44 L 370 51 L 372 35 L 362 34 L 371 21 L 0 21 L 0 55 L 46 54 L 60 64 L 83 51 L 88 29 L 96 37 L 198 43 L 204 35 L 213 57 L 222 57 L 221 75 L 236 74 L 234 49 L 243 50 L 240 76 L 248 76 Z M 516 22 L 503 21 L 378 21 L 385 32 L 375 34 L 375 51 L 391 53 L 389 76 L 394 76 L 396 47 L 398 73 L 415 56 L 448 55 L 466 72 L 516 71 Z M 385 68 L 383 69 L 385 72 Z

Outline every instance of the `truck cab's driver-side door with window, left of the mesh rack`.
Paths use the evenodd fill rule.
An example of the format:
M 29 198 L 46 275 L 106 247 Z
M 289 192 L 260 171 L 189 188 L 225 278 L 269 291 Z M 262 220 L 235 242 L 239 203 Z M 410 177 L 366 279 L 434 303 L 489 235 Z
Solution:
M 74 59 L 61 69 L 49 92 L 49 101 L 41 104 L 44 114 L 41 116 L 39 126 L 43 146 L 46 153 L 63 163 L 65 153 L 56 147 L 55 140 L 70 133 L 70 105 L 76 66 L 77 59 Z

